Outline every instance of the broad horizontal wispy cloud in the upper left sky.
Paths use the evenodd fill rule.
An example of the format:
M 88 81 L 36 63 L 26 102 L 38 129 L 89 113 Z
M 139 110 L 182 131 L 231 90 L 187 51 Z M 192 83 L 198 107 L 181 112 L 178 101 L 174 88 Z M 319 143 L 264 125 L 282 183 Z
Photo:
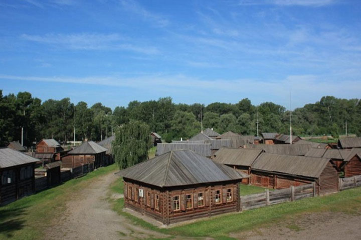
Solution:
M 139 46 L 128 43 L 129 39 L 119 34 L 75 33 L 75 34 L 22 34 L 23 39 L 46 43 L 74 50 L 127 50 L 144 54 L 157 54 L 153 46 Z

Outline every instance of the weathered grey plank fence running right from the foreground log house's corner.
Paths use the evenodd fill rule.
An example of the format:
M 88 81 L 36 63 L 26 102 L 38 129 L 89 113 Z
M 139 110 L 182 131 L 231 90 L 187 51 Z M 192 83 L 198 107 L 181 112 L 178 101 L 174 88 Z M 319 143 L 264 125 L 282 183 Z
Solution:
M 265 192 L 241 196 L 241 211 L 254 209 L 262 206 L 269 206 L 286 201 L 294 201 L 301 198 L 313 197 L 316 195 L 315 183 L 301 186 L 291 186 L 290 188 L 278 189 Z

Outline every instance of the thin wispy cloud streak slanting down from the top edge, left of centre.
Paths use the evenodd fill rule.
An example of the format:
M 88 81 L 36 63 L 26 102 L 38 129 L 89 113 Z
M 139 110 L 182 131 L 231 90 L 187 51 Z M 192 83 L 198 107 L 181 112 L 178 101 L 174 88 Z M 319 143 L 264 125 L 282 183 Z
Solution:
M 159 13 L 151 12 L 135 0 L 120 0 L 122 6 L 134 14 L 140 15 L 144 20 L 150 21 L 154 26 L 164 27 L 169 25 L 169 20 Z

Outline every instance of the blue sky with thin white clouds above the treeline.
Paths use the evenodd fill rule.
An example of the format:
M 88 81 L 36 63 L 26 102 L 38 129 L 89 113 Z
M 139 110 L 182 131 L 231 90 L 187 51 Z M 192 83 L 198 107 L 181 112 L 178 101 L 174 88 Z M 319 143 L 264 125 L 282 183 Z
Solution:
M 0 89 L 114 108 L 361 96 L 361 1 L 2 0 Z

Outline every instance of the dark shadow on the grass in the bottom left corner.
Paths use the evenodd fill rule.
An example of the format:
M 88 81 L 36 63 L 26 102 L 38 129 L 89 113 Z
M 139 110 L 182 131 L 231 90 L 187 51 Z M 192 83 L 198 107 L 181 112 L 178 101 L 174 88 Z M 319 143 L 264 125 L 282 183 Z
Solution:
M 20 230 L 25 226 L 25 220 L 22 219 L 26 214 L 26 207 L 0 207 L 0 237 L 12 237 L 13 232 Z

